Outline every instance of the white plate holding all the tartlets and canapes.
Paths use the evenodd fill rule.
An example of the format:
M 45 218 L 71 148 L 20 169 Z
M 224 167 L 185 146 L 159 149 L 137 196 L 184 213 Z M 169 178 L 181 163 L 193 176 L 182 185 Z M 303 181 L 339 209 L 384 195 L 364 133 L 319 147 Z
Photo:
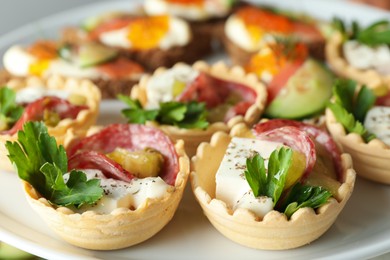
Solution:
M 54 37 L 64 25 L 77 24 L 86 16 L 109 9 L 130 10 L 136 2 L 108 1 L 31 23 L 1 37 L 0 54 L 11 44 Z M 343 1 L 289 0 L 277 4 L 323 19 L 338 16 L 364 24 L 389 19 L 389 13 Z M 99 122 L 124 122 L 119 113 L 122 107 L 115 101 L 103 102 Z M 0 198 L 0 240 L 49 259 L 357 259 L 390 251 L 390 187 L 359 178 L 350 201 L 331 229 L 310 245 L 286 251 L 254 250 L 231 242 L 208 222 L 189 189 L 173 220 L 156 236 L 140 245 L 108 252 L 83 250 L 63 242 L 30 209 L 13 173 L 0 172 Z

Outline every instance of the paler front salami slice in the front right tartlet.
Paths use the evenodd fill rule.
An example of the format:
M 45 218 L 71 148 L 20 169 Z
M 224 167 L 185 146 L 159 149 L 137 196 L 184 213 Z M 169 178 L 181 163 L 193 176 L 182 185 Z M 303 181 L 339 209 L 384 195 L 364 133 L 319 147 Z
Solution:
M 262 132 L 255 132 L 258 139 L 281 142 L 306 156 L 306 170 L 302 178 L 309 176 L 316 163 L 316 150 L 310 135 L 294 126 L 282 126 Z

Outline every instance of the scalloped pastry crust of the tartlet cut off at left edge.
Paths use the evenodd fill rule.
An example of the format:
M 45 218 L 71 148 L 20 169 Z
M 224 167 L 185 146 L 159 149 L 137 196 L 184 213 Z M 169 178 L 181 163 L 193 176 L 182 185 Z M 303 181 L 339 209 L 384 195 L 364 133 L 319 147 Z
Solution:
M 45 86 L 48 89 L 67 90 L 71 93 L 85 97 L 88 109 L 80 111 L 76 119 L 63 119 L 57 126 L 48 127 L 48 132 L 54 136 L 58 144 L 64 143 L 64 137 L 68 130 L 85 131 L 91 125 L 95 124 L 98 114 L 101 95 L 99 89 L 89 80 L 67 79 L 60 76 L 52 76 L 48 79 L 41 79 L 38 77 L 29 77 L 26 79 L 11 79 L 7 86 L 15 91 L 23 89 L 27 86 Z M 16 141 L 17 134 L 14 135 L 0 135 L 0 165 L 1 169 L 12 171 L 13 166 L 9 161 L 5 148 L 7 141 Z

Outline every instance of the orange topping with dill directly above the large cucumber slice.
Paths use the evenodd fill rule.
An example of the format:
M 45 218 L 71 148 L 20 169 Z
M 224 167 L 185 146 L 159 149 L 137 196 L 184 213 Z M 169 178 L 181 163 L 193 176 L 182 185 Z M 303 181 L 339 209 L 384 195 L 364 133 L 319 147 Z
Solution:
M 245 69 L 261 76 L 263 72 L 272 76 L 278 74 L 288 63 L 303 61 L 308 56 L 306 45 L 302 43 L 274 43 L 253 55 Z

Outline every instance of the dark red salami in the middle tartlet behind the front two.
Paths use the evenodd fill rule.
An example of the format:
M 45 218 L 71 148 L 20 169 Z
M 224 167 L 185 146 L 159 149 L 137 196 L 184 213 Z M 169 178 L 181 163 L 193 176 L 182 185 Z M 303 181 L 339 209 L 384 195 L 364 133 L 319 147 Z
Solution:
M 190 83 L 183 93 L 178 97 L 178 101 L 199 101 L 205 102 L 207 108 L 214 108 L 226 102 L 231 93 L 236 93 L 240 101 L 253 104 L 256 101 L 256 91 L 243 84 L 227 81 L 213 77 L 205 72 Z

